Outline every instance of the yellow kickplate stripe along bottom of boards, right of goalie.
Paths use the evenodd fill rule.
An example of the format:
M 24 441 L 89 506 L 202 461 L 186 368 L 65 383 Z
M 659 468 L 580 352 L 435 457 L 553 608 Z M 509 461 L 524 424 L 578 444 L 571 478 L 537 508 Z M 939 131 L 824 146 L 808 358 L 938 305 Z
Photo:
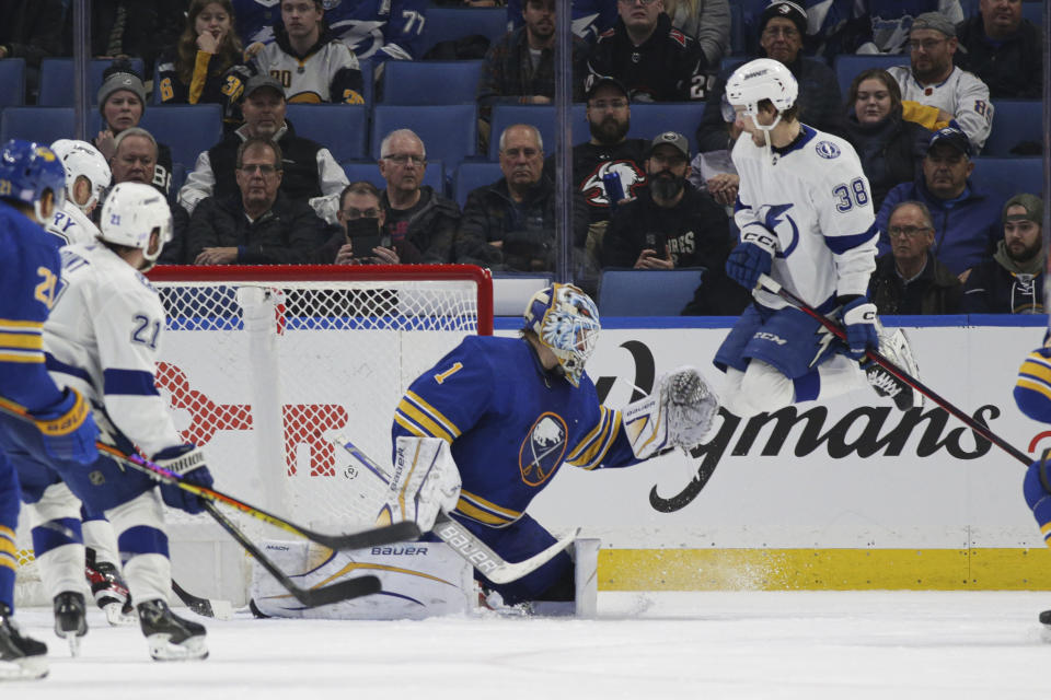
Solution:
M 602 549 L 600 591 L 1051 591 L 1035 549 Z

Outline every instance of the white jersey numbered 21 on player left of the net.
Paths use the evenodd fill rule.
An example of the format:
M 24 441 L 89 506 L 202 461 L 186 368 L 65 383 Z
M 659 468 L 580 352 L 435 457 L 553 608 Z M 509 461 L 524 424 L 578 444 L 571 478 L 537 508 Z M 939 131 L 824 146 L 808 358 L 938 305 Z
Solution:
M 104 442 L 116 442 L 115 428 L 150 457 L 184 444 L 154 383 L 165 319 L 157 291 L 101 243 L 61 255 L 62 280 L 44 324 L 51 378 L 92 402 Z

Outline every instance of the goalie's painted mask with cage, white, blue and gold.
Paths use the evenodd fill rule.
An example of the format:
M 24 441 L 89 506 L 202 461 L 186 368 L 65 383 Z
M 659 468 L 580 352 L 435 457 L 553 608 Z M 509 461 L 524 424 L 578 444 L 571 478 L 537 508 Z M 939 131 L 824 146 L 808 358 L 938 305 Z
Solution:
M 580 386 L 601 329 L 591 298 L 573 284 L 554 284 L 533 294 L 524 316 L 526 328 L 558 358 L 566 380 Z

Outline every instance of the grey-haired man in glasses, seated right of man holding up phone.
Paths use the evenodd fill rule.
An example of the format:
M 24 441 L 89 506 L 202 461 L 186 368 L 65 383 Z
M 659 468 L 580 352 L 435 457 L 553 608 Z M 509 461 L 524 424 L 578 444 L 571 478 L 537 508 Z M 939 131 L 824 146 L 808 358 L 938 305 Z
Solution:
M 395 248 L 404 241 L 418 252 L 418 261 L 451 262 L 460 206 L 423 185 L 427 172 L 423 140 L 409 129 L 391 131 L 380 143 L 379 165 L 386 180 L 380 195 L 384 230 Z M 404 257 L 402 262 L 408 262 Z

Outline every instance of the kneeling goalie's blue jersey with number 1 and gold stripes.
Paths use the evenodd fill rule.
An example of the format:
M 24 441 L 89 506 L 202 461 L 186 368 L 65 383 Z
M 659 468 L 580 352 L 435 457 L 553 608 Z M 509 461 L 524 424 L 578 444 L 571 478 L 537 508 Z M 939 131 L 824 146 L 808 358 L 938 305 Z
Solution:
M 564 462 L 638 462 L 590 377 L 575 388 L 545 372 L 520 338 L 465 338 L 408 387 L 392 432 L 449 442 L 463 481 L 457 512 L 490 527 L 518 520 Z

